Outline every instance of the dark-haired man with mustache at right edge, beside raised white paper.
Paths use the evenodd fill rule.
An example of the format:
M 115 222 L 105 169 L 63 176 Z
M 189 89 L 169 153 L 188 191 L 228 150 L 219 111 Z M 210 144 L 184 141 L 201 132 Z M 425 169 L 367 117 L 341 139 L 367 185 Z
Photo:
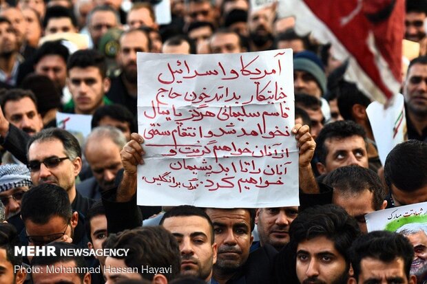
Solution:
M 403 94 L 408 139 L 427 141 L 427 56 L 410 61 Z

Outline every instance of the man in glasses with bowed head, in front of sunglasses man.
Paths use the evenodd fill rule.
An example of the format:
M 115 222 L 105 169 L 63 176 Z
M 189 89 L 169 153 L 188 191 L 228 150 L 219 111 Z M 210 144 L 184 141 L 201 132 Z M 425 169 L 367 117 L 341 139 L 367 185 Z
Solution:
M 28 245 L 65 241 L 87 248 L 80 216 L 78 212 L 73 212 L 63 188 L 54 184 L 34 186 L 22 199 L 21 218 Z

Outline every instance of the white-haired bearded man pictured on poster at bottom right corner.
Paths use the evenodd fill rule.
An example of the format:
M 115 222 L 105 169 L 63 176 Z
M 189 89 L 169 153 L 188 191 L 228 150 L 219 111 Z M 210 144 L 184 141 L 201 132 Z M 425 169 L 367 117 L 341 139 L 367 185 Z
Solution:
M 408 223 L 399 229 L 414 247 L 414 259 L 410 265 L 410 274 L 417 276 L 421 282 L 422 274 L 426 271 L 427 261 L 427 225 L 425 223 Z

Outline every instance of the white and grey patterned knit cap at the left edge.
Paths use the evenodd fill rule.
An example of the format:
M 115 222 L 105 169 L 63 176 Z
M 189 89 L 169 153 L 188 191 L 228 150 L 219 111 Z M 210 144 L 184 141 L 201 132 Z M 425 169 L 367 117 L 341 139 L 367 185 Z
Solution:
M 21 164 L 0 166 L 0 193 L 21 186 L 32 186 L 30 171 Z

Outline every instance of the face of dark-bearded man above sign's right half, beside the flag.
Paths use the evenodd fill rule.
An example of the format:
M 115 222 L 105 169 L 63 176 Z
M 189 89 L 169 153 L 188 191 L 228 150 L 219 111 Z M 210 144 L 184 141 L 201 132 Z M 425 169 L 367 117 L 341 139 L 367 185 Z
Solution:
M 249 15 L 248 27 L 251 40 L 262 46 L 273 40 L 274 12 L 271 8 L 255 10 Z

